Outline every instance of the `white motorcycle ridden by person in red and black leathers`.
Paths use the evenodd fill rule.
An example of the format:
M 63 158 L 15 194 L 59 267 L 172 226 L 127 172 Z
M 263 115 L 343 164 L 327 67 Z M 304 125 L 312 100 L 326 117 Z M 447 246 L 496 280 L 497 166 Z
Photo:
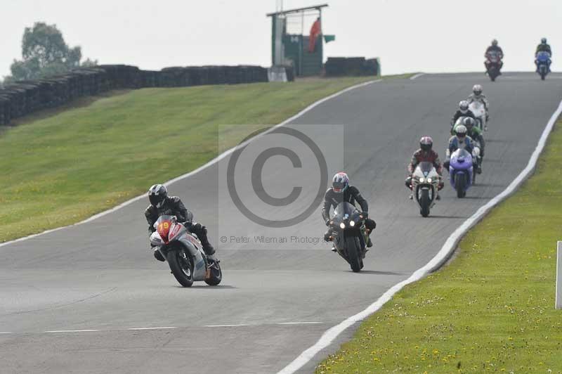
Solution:
M 422 217 L 429 216 L 429 209 L 435 205 L 440 180 L 441 177 L 431 162 L 420 162 L 412 174 L 412 193 Z

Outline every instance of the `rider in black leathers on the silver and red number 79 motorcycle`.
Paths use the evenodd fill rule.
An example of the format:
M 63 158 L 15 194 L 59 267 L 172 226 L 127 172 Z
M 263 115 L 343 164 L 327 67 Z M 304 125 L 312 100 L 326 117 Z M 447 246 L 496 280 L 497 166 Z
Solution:
M 193 222 L 193 213 L 188 210 L 180 198 L 177 196 L 168 196 L 168 190 L 163 184 L 155 184 L 148 189 L 148 200 L 150 205 L 145 210 L 145 217 L 148 221 L 148 231 L 150 234 L 156 231 L 154 223 L 158 217 L 163 214 L 176 216 L 178 222 L 181 222 L 190 233 L 195 233 L 197 238 L 201 240 L 203 250 L 207 254 L 207 258 L 214 260 L 214 247 L 209 243 L 207 238 L 207 228 L 197 222 Z M 164 261 L 164 257 L 158 250 L 154 251 L 154 257 L 159 261 Z

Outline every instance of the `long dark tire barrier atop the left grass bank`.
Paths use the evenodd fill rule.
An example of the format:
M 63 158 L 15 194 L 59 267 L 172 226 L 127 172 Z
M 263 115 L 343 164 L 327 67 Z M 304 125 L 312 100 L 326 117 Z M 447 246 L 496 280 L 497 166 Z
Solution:
M 72 70 L 64 75 L 20 81 L 0 89 L 0 125 L 46 108 L 56 108 L 84 96 L 112 89 L 185 87 L 203 84 L 268 82 L 268 70 L 261 66 L 166 67 L 160 71 L 140 70 L 130 65 L 98 65 Z

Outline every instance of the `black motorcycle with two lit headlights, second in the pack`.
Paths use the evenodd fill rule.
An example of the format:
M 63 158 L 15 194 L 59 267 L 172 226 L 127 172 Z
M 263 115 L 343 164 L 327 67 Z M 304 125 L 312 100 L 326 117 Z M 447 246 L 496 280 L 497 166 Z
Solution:
M 363 268 L 369 240 L 365 220 L 355 205 L 340 202 L 329 221 L 329 238 L 336 252 L 343 257 L 355 273 Z

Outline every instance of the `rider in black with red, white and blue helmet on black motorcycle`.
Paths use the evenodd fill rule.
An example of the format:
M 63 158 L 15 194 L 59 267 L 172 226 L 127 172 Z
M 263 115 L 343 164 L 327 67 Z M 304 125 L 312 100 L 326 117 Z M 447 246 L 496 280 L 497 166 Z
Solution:
M 322 204 L 322 218 L 324 219 L 326 226 L 329 226 L 329 210 L 332 207 L 337 207 L 340 202 L 349 202 L 355 205 L 357 201 L 361 207 L 361 215 L 365 218 L 365 228 L 367 228 L 367 234 L 374 230 L 377 224 L 369 217 L 369 204 L 367 200 L 361 196 L 358 188 L 349 185 L 349 177 L 344 172 L 339 172 L 334 175 L 332 179 L 332 187 L 328 188 L 324 194 L 324 203 Z M 329 241 L 329 230 L 324 234 L 326 241 Z M 371 238 L 367 242 L 367 247 L 372 247 Z M 334 250 L 332 248 L 332 250 Z

